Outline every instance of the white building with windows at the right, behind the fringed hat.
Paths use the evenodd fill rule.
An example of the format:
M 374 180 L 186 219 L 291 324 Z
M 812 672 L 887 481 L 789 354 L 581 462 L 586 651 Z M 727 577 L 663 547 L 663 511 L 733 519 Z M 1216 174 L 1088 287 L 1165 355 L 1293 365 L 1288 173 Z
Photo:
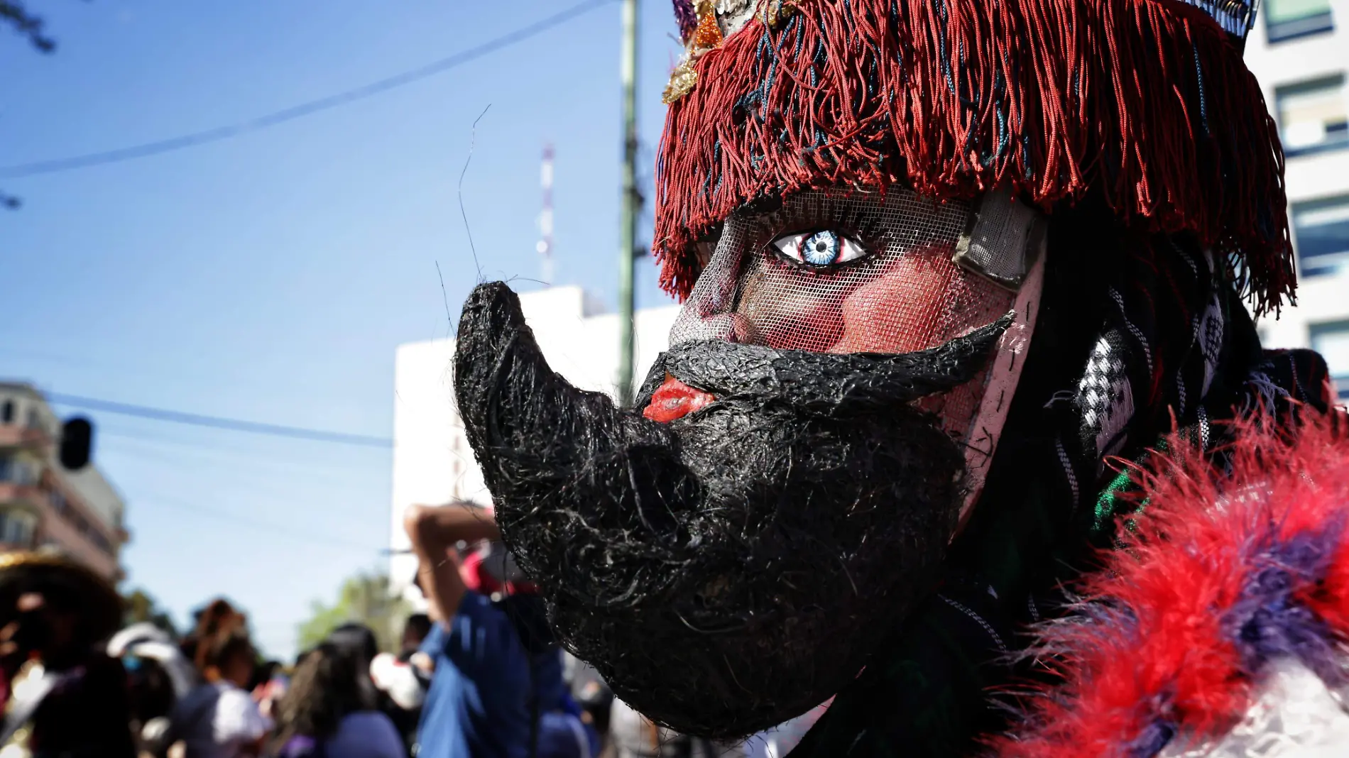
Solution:
M 1349 0 L 1265 0 L 1246 43 L 1287 155 L 1298 306 L 1260 321 L 1268 347 L 1310 347 L 1349 401 Z

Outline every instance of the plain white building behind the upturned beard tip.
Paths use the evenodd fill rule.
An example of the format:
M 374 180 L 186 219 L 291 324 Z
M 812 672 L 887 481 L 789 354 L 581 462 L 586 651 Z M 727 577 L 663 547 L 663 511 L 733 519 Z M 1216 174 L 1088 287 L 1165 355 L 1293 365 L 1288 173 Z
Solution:
M 618 316 L 600 313 L 580 287 L 522 294 L 525 321 L 534 330 L 553 371 L 581 390 L 614 394 L 618 375 Z M 679 306 L 637 313 L 633 384 L 668 345 Z M 420 604 L 410 589 L 417 561 L 407 554 L 403 511 L 409 506 L 449 502 L 491 503 L 482 471 L 455 407 L 455 340 L 399 345 L 394 359 L 394 476 L 389 577 L 394 592 Z

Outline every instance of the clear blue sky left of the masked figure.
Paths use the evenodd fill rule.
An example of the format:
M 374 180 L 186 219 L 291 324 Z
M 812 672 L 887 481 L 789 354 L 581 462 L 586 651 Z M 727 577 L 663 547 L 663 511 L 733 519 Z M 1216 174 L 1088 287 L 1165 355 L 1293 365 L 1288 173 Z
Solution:
M 415 69 L 572 0 L 30 3 L 58 40 L 0 34 L 0 166 L 232 124 Z M 642 0 L 643 170 L 679 54 Z M 214 144 L 0 179 L 0 376 L 57 392 L 387 437 L 399 343 L 442 337 L 476 282 L 537 276 L 538 161 L 557 148 L 560 283 L 614 301 L 619 5 L 455 70 Z M 649 179 L 648 179 L 649 182 Z M 649 225 L 648 225 L 649 228 Z M 668 299 L 650 260 L 638 305 Z M 519 289 L 536 285 L 519 282 Z M 71 409 L 61 409 L 69 413 Z M 128 503 L 131 585 L 179 619 L 224 593 L 267 651 L 378 568 L 387 450 L 93 414 Z

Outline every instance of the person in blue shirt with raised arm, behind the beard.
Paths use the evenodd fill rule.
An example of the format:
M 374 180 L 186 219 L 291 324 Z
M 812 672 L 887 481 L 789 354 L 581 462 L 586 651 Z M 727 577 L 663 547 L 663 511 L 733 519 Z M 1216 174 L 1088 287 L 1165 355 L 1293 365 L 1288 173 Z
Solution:
M 542 603 L 491 511 L 413 506 L 405 526 L 436 622 L 414 658 L 430 673 L 418 758 L 594 758 L 598 736 L 563 680 Z

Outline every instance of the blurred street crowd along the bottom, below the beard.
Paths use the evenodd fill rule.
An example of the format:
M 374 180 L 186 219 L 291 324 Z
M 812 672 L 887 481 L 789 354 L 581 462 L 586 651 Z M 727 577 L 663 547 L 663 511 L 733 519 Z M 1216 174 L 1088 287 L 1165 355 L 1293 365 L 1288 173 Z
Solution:
M 734 745 L 616 700 L 548 627 L 488 508 L 413 507 L 426 614 L 397 650 L 345 623 L 262 661 L 246 615 L 201 607 L 181 639 L 54 554 L 0 557 L 0 758 L 780 758 L 819 709 Z

